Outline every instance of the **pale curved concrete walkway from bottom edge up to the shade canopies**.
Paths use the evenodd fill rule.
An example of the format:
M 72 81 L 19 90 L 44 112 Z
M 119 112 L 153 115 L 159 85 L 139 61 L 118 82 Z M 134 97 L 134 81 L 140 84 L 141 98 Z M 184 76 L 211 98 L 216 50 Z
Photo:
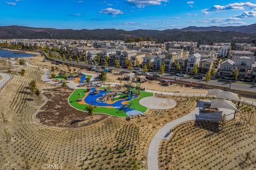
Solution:
M 166 125 L 163 126 L 163 128 L 161 128 L 155 134 L 148 148 L 148 156 L 147 156 L 148 170 L 158 169 L 158 147 L 163 139 L 168 140 L 171 137 L 172 135 L 171 129 L 174 128 L 174 126 L 177 126 L 178 124 L 183 122 L 193 121 L 193 120 L 220 121 L 222 113 L 225 113 L 227 115 L 227 120 L 230 120 L 231 118 L 234 117 L 234 111 L 231 111 L 229 109 L 221 109 L 221 108 L 217 113 L 212 113 L 212 114 L 199 113 L 199 108 L 203 108 L 204 104 L 209 102 L 210 100 L 198 101 L 194 111 L 192 111 L 191 113 L 183 117 L 173 120 L 170 123 L 167 123 Z

